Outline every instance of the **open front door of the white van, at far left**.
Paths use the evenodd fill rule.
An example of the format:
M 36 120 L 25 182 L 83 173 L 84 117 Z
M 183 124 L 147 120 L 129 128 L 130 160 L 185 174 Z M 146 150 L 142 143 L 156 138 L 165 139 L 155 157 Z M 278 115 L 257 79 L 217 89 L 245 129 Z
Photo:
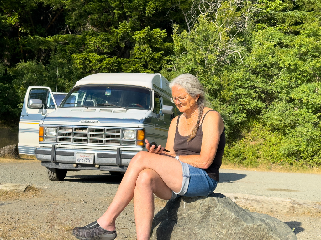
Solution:
M 30 107 L 30 99 L 42 101 L 42 107 Z M 43 109 L 47 112 L 44 113 Z M 57 109 L 56 101 L 49 87 L 28 87 L 23 101 L 19 122 L 19 153 L 35 155 L 35 149 L 39 148 L 39 123 L 47 114 Z

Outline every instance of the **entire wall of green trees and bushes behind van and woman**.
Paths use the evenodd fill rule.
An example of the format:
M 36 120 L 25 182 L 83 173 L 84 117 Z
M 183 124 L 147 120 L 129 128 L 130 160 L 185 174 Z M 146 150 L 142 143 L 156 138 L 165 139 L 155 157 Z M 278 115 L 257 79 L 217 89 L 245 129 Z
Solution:
M 196 75 L 236 164 L 321 165 L 318 0 L 0 3 L 0 120 L 30 85 L 68 92 L 99 72 Z

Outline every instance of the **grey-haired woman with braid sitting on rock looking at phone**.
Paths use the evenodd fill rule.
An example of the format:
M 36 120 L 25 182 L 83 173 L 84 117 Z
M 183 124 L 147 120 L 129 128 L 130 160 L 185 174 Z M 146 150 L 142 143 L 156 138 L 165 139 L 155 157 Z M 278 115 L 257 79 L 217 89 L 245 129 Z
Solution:
M 97 221 L 74 228 L 76 238 L 115 239 L 116 218 L 134 197 L 137 239 L 147 240 L 154 217 L 154 194 L 169 200 L 213 193 L 225 147 L 223 119 L 204 107 L 205 93 L 195 76 L 182 74 L 169 86 L 170 100 L 184 113 L 169 126 L 169 153 L 145 140 L 148 151 L 139 152 L 131 160 L 107 211 Z

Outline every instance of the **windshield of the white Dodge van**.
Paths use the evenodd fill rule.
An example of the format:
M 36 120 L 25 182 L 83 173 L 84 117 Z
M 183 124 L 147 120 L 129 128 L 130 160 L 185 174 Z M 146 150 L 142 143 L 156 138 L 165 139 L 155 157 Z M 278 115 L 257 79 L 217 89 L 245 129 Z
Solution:
M 79 86 L 70 91 L 60 107 L 114 107 L 150 109 L 151 90 L 124 85 Z

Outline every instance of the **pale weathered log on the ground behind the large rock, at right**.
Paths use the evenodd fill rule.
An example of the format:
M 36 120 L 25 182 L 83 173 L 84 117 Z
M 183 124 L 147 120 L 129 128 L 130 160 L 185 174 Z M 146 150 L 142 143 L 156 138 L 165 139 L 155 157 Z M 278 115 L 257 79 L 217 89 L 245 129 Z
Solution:
M 321 202 L 299 200 L 294 198 L 278 198 L 255 196 L 240 193 L 222 193 L 241 207 L 255 208 L 262 212 L 278 213 L 318 213 Z

